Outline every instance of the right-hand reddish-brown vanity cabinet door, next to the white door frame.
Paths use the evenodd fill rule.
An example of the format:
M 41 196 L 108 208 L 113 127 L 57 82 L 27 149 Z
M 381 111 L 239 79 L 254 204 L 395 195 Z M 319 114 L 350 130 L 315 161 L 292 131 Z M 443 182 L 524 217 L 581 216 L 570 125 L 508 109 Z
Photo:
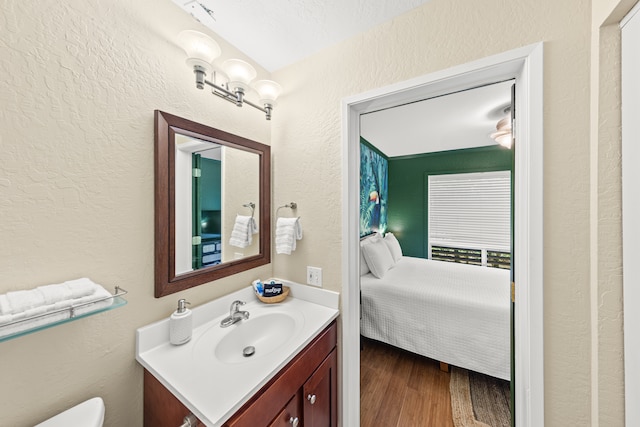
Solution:
M 334 349 L 302 387 L 304 427 L 338 425 L 337 378 Z

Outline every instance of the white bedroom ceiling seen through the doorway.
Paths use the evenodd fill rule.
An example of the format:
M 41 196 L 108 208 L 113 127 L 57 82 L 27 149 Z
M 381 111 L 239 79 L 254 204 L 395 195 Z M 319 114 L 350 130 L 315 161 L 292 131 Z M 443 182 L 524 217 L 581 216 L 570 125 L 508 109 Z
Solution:
M 495 145 L 512 82 L 496 83 L 360 118 L 360 134 L 389 157 Z

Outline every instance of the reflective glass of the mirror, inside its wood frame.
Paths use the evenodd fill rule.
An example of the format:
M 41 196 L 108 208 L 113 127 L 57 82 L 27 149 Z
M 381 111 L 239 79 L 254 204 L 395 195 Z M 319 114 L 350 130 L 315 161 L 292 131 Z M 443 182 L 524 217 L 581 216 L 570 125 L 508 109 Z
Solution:
M 259 156 L 176 134 L 176 275 L 260 251 Z

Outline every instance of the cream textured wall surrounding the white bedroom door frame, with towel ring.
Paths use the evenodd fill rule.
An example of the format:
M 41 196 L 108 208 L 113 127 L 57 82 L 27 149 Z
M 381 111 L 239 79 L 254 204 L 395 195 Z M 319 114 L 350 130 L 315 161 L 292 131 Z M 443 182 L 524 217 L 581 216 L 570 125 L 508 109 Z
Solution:
M 276 197 L 295 199 L 305 238 L 274 273 L 324 268 L 340 289 L 340 101 L 390 83 L 545 41 L 545 424 L 590 423 L 589 59 L 586 0 L 433 0 L 274 73 L 286 84 L 273 128 Z M 308 176 L 309 179 L 298 179 Z M 278 200 L 284 201 L 284 200 Z

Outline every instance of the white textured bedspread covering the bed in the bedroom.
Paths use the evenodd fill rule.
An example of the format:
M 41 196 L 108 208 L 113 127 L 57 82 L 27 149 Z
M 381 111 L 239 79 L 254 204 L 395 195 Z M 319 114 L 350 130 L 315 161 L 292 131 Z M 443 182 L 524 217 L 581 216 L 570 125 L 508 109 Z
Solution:
M 361 334 L 509 380 L 509 271 L 402 257 L 360 278 Z

